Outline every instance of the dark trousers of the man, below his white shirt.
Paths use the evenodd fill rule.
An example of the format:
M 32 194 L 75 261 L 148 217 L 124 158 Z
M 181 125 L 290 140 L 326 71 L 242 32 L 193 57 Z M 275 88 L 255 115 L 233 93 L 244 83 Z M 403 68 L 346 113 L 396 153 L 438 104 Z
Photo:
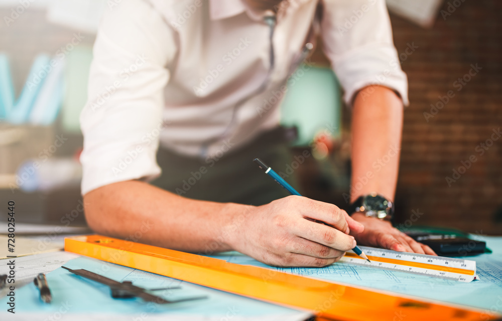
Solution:
M 162 176 L 152 184 L 196 200 L 256 206 L 270 203 L 290 194 L 253 159 L 260 157 L 276 172 L 284 172 L 292 162 L 287 136 L 287 130 L 279 127 L 245 146 L 228 147 L 220 158 L 187 157 L 160 147 L 157 162 Z M 297 188 L 294 175 L 285 179 Z

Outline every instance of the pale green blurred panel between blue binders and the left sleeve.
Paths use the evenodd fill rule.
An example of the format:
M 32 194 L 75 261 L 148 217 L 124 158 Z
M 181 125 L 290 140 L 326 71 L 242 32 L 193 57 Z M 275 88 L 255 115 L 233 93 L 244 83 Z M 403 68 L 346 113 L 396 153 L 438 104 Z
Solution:
M 80 133 L 80 111 L 87 102 L 91 61 L 92 47 L 86 45 L 76 46 L 66 57 L 62 125 L 68 132 Z

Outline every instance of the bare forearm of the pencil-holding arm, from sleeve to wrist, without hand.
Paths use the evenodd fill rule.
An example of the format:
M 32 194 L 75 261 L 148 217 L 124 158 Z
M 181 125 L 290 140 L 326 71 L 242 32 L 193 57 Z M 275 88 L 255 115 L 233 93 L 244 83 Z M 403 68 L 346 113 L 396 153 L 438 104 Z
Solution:
M 190 252 L 230 250 L 234 218 L 248 211 L 244 205 L 191 200 L 139 181 L 91 191 L 84 206 L 87 223 L 97 233 Z

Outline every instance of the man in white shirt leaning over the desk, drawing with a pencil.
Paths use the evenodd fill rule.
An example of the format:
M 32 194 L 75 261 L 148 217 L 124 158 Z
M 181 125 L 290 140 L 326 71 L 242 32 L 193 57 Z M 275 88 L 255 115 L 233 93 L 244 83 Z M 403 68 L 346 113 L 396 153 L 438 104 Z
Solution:
M 277 129 L 280 101 L 263 106 L 312 49 L 317 29 L 353 110 L 352 181 L 372 172 L 351 195 L 360 210 L 352 217 L 332 204 L 281 198 L 252 164 L 255 156 L 273 167 L 291 162 Z M 89 226 L 121 238 L 141 228 L 143 243 L 237 250 L 280 266 L 331 264 L 356 240 L 433 254 L 357 206 L 372 193 L 388 207 L 394 197 L 399 156 L 380 171 L 372 163 L 400 146 L 407 83 L 397 62 L 384 0 L 110 6 L 81 115 Z M 147 183 L 161 173 L 157 162 L 161 188 Z

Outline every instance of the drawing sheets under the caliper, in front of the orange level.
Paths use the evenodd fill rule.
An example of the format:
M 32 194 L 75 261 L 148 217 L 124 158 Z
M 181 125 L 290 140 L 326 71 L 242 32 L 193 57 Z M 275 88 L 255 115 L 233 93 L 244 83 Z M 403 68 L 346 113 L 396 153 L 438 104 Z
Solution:
M 65 253 L 65 252 L 60 252 Z M 46 253 L 28 264 L 29 257 L 18 258 L 19 280 L 45 272 L 46 265 L 53 265 L 54 271 L 47 274 L 53 300 L 50 304 L 40 300 L 40 294 L 33 282 L 20 287 L 16 277 L 16 313 L 0 310 L 0 319 L 45 320 L 68 319 L 72 321 L 103 320 L 250 320 L 260 318 L 269 320 L 305 320 L 309 313 L 255 299 L 210 289 L 204 286 L 183 282 L 170 277 L 145 272 L 129 267 L 99 261 L 93 258 L 66 253 L 70 256 L 49 257 L 56 253 Z M 36 258 L 37 256 L 31 256 Z M 68 258 L 73 258 L 67 260 Z M 75 258 L 76 257 L 76 258 Z M 0 260 L 4 265 L 5 260 Z M 207 296 L 205 299 L 174 304 L 145 303 L 139 298 L 113 299 L 107 286 L 74 275 L 59 267 L 62 264 L 71 269 L 86 269 L 117 281 L 132 281 L 134 285 L 147 289 L 180 286 L 180 289 L 155 291 L 154 294 L 166 299 L 191 296 Z M 30 267 L 28 267 L 30 265 Z M 6 266 L 5 266 L 6 267 Z M 33 280 L 33 279 L 32 279 Z M 7 297 L 0 299 L 0 305 L 7 306 Z M 63 313 L 64 312 L 64 313 Z M 7 318 L 4 318 L 6 317 Z M 56 318 L 57 316 L 57 318 Z

